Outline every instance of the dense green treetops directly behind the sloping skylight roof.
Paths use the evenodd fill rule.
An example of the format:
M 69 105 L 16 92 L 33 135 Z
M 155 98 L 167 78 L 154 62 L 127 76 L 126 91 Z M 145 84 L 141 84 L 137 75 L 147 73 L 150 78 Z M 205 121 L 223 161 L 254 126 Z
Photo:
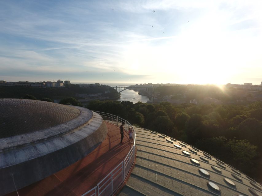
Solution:
M 86 107 L 187 142 L 261 182 L 262 102 L 242 106 L 95 100 Z

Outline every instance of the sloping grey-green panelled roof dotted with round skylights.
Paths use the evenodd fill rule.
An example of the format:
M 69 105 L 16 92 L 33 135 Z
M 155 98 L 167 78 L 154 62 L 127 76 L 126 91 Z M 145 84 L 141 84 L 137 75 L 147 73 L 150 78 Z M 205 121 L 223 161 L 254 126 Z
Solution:
M 262 187 L 259 183 L 221 160 L 211 155 L 208 158 L 203 151 L 181 141 L 174 141 L 174 138 L 162 137 L 161 134 L 154 134 L 140 127 L 134 128 L 136 163 L 118 196 L 262 195 L 260 190 Z M 181 149 L 175 147 L 175 144 Z M 190 153 L 190 156 L 182 151 Z M 191 158 L 199 164 L 194 163 Z M 206 158 L 208 162 L 201 158 Z M 221 172 L 211 166 L 213 168 L 216 166 Z M 204 169 L 209 175 L 201 173 L 199 169 Z M 235 186 L 230 185 L 228 181 L 232 181 Z M 252 182 L 257 187 L 252 185 Z M 214 190 L 208 183 L 214 183 L 220 190 Z

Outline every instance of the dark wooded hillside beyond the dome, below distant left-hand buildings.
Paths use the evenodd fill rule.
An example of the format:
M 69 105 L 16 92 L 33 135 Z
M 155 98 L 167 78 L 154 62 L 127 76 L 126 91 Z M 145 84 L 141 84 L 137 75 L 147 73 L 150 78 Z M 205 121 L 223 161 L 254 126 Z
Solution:
M 35 87 L 23 87 L 23 86 L 0 86 L 0 98 L 24 98 L 25 95 L 32 95 L 36 99 L 41 100 L 42 98 L 49 99 L 63 99 L 66 97 L 78 98 L 76 94 L 80 93 L 104 93 L 110 91 L 106 96 L 109 98 L 116 98 L 119 93 L 115 89 L 107 85 L 100 86 L 88 86 L 80 87 L 79 85 L 67 85 L 60 88 L 35 88 Z

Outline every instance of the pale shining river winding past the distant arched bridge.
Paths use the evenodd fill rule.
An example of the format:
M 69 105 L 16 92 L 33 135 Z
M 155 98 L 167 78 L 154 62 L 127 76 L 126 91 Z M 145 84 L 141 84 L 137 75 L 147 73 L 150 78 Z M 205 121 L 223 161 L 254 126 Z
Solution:
M 117 101 L 131 101 L 133 104 L 141 101 L 143 103 L 147 103 L 149 98 L 144 95 L 139 95 L 137 91 L 126 89 L 121 93 L 121 98 L 119 98 Z

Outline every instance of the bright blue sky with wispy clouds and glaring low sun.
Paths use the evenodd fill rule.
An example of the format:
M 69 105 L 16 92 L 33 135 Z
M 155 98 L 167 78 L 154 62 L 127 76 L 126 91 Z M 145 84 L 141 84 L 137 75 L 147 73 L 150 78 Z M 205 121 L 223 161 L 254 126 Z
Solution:
M 0 80 L 260 84 L 261 10 L 261 0 L 1 0 Z

